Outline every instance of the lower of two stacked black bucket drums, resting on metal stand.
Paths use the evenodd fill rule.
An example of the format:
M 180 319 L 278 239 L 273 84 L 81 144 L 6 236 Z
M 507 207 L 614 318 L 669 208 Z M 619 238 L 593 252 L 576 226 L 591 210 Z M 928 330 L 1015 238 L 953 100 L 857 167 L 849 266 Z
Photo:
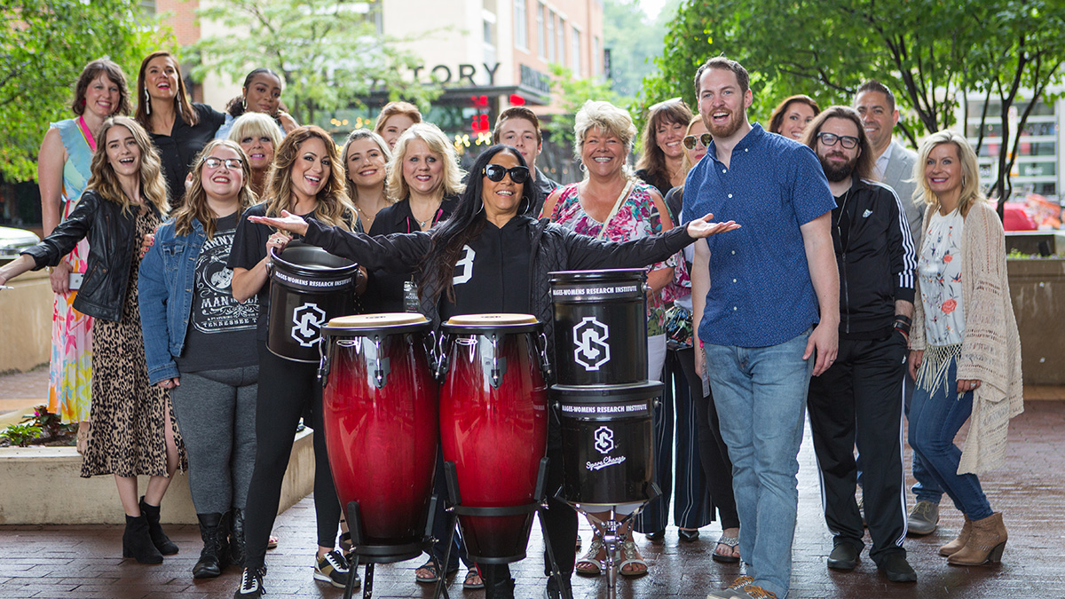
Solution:
M 562 498 L 587 512 L 632 513 L 657 495 L 651 416 L 662 384 L 554 385 L 562 421 Z

